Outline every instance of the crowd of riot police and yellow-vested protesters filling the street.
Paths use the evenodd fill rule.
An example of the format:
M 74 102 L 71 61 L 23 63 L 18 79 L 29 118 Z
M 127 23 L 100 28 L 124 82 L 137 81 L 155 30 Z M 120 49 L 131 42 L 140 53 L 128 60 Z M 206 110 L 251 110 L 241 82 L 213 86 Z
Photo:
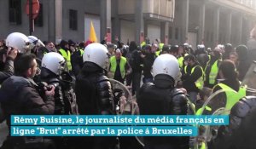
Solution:
M 55 44 L 10 33 L 0 42 L 0 122 L 6 120 L 10 129 L 13 114 L 117 114 L 119 97 L 113 94 L 109 78 L 131 89 L 142 115 L 212 114 L 221 107 L 231 110 L 247 95 L 240 84 L 253 59 L 245 45 L 235 48 L 227 43 L 211 49 L 200 44 L 193 49 L 188 43 L 165 45 L 159 39 L 140 45 L 134 41 L 126 45 L 118 37 L 116 44 L 105 39 L 101 43 L 61 40 Z M 218 90 L 224 92 L 201 109 Z M 135 137 L 29 141 L 33 139 L 8 136 L 2 149 L 191 147 L 189 137 L 144 137 L 145 146 Z M 216 148 L 227 145 L 216 142 Z M 203 149 L 204 142 L 199 144 Z

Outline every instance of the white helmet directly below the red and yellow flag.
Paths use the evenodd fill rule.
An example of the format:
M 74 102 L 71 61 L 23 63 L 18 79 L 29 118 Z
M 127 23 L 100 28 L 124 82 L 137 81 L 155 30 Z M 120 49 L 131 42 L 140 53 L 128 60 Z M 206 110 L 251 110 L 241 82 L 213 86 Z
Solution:
M 83 61 L 90 61 L 103 69 L 108 68 L 108 49 L 101 43 L 90 43 L 84 49 Z

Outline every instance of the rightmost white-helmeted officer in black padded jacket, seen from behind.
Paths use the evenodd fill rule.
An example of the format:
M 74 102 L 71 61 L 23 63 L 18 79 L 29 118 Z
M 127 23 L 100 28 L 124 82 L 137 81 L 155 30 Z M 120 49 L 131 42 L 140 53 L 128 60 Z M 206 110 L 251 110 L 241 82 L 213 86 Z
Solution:
M 188 106 L 183 92 L 175 89 L 179 74 L 177 59 L 161 54 L 153 65 L 154 83 L 145 83 L 137 94 L 142 115 L 186 115 Z M 145 137 L 146 148 L 189 148 L 188 137 Z

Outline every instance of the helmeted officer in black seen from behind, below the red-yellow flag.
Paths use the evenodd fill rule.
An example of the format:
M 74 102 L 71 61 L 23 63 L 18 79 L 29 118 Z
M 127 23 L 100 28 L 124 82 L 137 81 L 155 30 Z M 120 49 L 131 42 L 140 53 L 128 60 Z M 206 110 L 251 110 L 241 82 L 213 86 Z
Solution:
M 75 93 L 79 113 L 84 115 L 113 114 L 111 84 L 104 70 L 108 66 L 108 49 L 100 43 L 90 43 L 83 54 L 84 66 L 76 79 Z M 113 148 L 112 137 L 80 138 L 86 148 Z

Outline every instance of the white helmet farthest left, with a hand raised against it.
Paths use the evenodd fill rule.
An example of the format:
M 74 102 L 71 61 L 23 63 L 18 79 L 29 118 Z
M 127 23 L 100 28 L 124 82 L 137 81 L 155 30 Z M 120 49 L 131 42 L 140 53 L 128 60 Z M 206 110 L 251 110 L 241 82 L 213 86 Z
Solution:
M 27 53 L 29 49 L 29 39 L 20 32 L 13 32 L 6 38 L 6 46 L 9 48 L 18 49 L 19 53 Z

